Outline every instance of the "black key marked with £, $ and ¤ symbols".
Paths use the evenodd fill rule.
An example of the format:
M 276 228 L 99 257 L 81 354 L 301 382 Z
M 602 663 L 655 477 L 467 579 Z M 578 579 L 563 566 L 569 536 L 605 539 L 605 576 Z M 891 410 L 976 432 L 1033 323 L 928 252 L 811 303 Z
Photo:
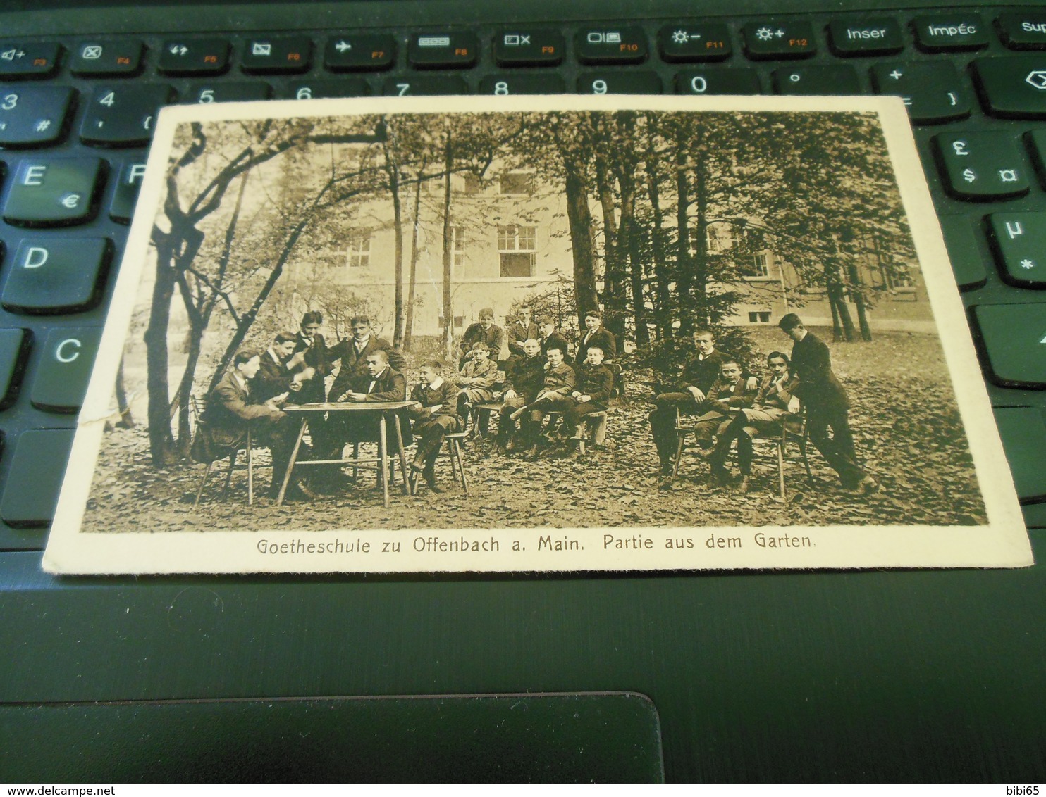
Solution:
M 1024 159 L 1008 133 L 949 133 L 934 137 L 945 187 L 960 200 L 1003 200 L 1028 192 Z

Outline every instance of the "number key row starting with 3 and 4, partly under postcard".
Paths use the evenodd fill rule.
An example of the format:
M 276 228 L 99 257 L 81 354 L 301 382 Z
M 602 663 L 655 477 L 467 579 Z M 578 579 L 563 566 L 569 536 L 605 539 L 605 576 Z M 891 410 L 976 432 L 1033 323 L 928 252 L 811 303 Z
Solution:
M 1046 118 L 1046 63 L 1032 69 L 1034 56 L 980 58 L 973 73 L 984 110 L 1003 118 Z M 963 119 L 972 96 L 967 81 L 948 62 L 881 63 L 869 70 L 879 94 L 900 95 L 916 124 Z M 1042 79 L 1039 79 L 1042 76 Z M 771 90 L 784 95 L 862 94 L 860 73 L 848 64 L 795 65 L 771 72 Z M 1038 88 L 1038 87 L 1042 88 Z M 759 94 L 766 90 L 752 68 L 709 66 L 683 70 L 670 87 L 680 94 Z M 374 89 L 363 77 L 301 78 L 286 85 L 282 96 L 314 99 L 367 96 Z M 386 96 L 471 94 L 458 75 L 410 74 L 385 78 L 377 89 Z M 554 72 L 495 73 L 478 85 L 481 94 L 562 94 L 565 79 Z M 644 70 L 583 70 L 573 90 L 582 94 L 660 94 L 661 77 Z M 97 86 L 86 102 L 79 140 L 93 146 L 132 147 L 149 143 L 159 109 L 173 101 L 190 103 L 269 99 L 264 81 L 215 80 L 190 85 L 180 98 L 162 84 Z M 0 89 L 0 147 L 30 148 L 55 144 L 67 137 L 79 104 L 78 92 L 64 86 L 14 85 Z

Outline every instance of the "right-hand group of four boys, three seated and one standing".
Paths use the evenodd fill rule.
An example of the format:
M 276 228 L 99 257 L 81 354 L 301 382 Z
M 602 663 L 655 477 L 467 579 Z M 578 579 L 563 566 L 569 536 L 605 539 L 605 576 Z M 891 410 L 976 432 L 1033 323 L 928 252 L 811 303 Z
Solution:
M 707 329 L 693 333 L 695 354 L 683 366 L 673 390 L 654 398 L 651 432 L 657 447 L 662 489 L 670 489 L 681 453 L 681 433 L 697 438 L 698 456 L 708 461 L 719 485 L 731 482 L 727 469 L 736 443 L 738 492 L 747 492 L 752 472 L 752 441 L 782 427 L 797 429 L 805 407 L 810 442 L 839 474 L 842 486 L 869 494 L 876 480 L 858 464 L 849 427 L 849 399 L 832 370 L 827 345 L 810 332 L 795 313 L 781 318 L 779 327 L 793 341 L 792 356 L 780 351 L 767 355 L 761 381 L 744 372 L 738 360 L 719 351 Z M 686 432 L 677 430 L 681 416 L 692 416 Z M 832 433 L 829 436 L 828 430 Z

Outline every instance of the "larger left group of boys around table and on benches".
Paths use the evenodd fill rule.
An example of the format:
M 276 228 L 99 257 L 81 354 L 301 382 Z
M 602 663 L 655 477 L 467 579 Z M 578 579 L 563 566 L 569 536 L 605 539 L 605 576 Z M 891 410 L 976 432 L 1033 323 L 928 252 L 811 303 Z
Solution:
M 498 442 L 506 449 L 510 439 L 516 448 L 532 449 L 538 444 L 545 414 L 563 414 L 566 437 L 578 439 L 586 415 L 607 408 L 613 374 L 605 365 L 616 353 L 612 334 L 601 328 L 601 315 L 586 317 L 586 334 L 578 347 L 581 364 L 570 364 L 566 339 L 554 322 L 542 318 L 535 324 L 524 308 L 520 321 L 508 333 L 496 326 L 494 312 L 484 308 L 471 325 L 460 345 L 459 370 L 445 375 L 444 366 L 427 360 L 419 366 L 419 382 L 410 391 L 412 405 L 399 414 L 399 423 L 387 431 L 390 450 L 410 445 L 417 438 L 411 463 L 412 479 L 424 477 L 434 491 L 434 464 L 446 435 L 463 430 L 472 406 L 494 398 L 501 367 L 505 372 L 504 412 L 501 413 Z M 327 346 L 319 327 L 323 319 L 308 312 L 298 333 L 280 332 L 263 352 L 243 350 L 211 392 L 194 445 L 194 455 L 210 462 L 228 455 L 244 445 L 247 428 L 255 445 L 272 448 L 275 497 L 283 482 L 287 465 L 297 439 L 298 423 L 281 407 L 287 404 L 331 402 L 388 402 L 408 398 L 404 376 L 406 360 L 391 343 L 378 337 L 366 317 L 351 319 L 353 334 Z M 507 341 L 511 355 L 497 360 Z M 609 355 L 609 356 L 608 356 Z M 324 379 L 338 373 L 325 390 Z M 326 418 L 311 415 L 312 447 L 302 445 L 299 460 L 340 460 L 346 443 L 377 440 L 372 418 L 363 414 L 332 412 Z M 519 421 L 519 429 L 516 422 Z M 343 485 L 337 466 L 317 466 L 306 484 L 294 479 L 287 495 L 315 497 L 315 490 L 336 492 Z

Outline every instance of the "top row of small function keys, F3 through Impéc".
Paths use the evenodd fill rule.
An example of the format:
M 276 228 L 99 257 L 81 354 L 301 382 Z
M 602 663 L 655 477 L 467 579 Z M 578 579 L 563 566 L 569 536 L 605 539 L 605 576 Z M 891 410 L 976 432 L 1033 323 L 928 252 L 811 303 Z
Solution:
M 1002 44 L 1014 50 L 1046 49 L 1046 11 L 1027 9 L 1000 15 L 995 29 Z M 914 45 L 925 52 L 978 50 L 988 46 L 992 25 L 975 11 L 924 15 L 911 22 Z M 889 55 L 901 52 L 906 34 L 892 17 L 833 20 L 826 44 L 841 57 Z M 741 28 L 745 54 L 752 60 L 804 58 L 818 50 L 820 31 L 793 18 L 756 19 Z M 638 64 L 650 56 L 645 31 L 638 26 L 605 25 L 576 31 L 577 61 L 585 65 Z M 469 69 L 479 60 L 481 43 L 472 31 L 444 30 L 415 33 L 407 43 L 407 65 L 413 69 Z M 306 36 L 248 39 L 240 67 L 248 74 L 299 74 L 313 66 L 313 40 Z M 228 39 L 168 39 L 157 56 L 161 74 L 215 75 L 233 64 Z M 714 62 L 733 52 L 730 30 L 723 23 L 682 20 L 664 25 L 657 50 L 670 63 Z M 87 41 L 73 48 L 69 70 L 84 77 L 126 77 L 144 66 L 140 40 Z M 323 67 L 332 72 L 390 69 L 395 65 L 396 39 L 389 34 L 345 32 L 328 37 Z M 504 28 L 493 39 L 495 63 L 501 67 L 555 66 L 566 54 L 566 40 L 552 28 Z M 0 78 L 49 77 L 60 68 L 58 43 L 0 43 Z

